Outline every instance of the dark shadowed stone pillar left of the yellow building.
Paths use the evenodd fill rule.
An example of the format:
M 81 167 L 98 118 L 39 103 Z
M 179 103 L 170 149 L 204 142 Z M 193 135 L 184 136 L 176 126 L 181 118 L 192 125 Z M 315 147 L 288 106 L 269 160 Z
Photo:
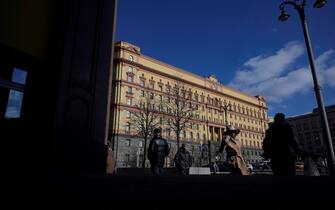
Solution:
M 106 171 L 116 0 L 71 0 L 55 117 L 53 169 Z

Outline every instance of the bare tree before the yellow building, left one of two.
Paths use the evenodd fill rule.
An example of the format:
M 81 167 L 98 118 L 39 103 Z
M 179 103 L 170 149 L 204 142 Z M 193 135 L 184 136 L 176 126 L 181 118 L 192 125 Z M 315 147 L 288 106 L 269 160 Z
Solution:
M 135 110 L 130 112 L 129 122 L 132 130 L 136 131 L 135 135 L 144 139 L 142 168 L 145 168 L 147 141 L 152 136 L 153 130 L 160 124 L 159 109 L 162 106 L 154 93 L 147 92 L 145 96 L 140 97 L 135 107 Z

